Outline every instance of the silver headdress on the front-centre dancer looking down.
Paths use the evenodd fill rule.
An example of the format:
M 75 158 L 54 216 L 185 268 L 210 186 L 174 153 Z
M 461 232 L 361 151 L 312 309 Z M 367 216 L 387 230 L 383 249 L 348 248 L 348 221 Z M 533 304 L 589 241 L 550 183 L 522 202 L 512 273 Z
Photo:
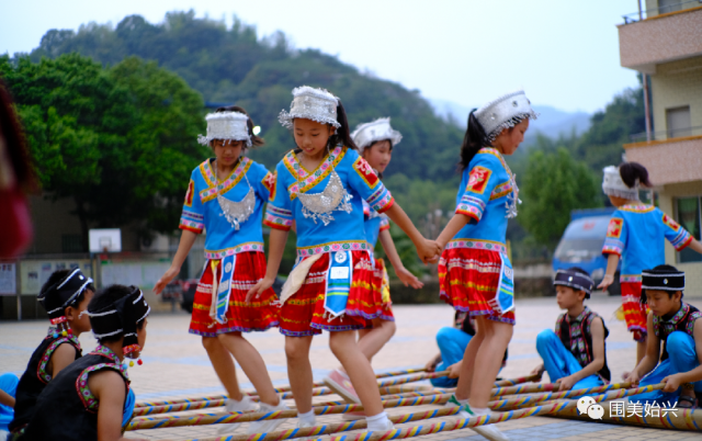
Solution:
M 290 112 L 282 110 L 278 116 L 283 127 L 293 128 L 293 120 L 296 117 L 312 120 L 322 124 L 331 124 L 339 128 L 337 121 L 337 105 L 339 99 L 325 89 L 315 89 L 309 86 L 301 86 L 293 89 L 293 102 L 290 103 Z

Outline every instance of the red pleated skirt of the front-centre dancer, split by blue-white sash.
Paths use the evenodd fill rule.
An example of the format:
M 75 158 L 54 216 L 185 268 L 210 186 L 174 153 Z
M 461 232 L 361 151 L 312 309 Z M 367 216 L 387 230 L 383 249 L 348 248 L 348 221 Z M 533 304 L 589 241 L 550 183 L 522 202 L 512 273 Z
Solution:
M 353 276 L 346 314 L 331 318 L 325 312 L 327 272 L 333 252 L 325 252 L 317 260 L 301 289 L 281 307 L 280 331 L 285 336 L 303 337 L 328 331 L 363 329 L 383 310 L 373 295 L 373 265 L 366 251 L 352 251 Z M 306 258 L 308 259 L 308 258 Z

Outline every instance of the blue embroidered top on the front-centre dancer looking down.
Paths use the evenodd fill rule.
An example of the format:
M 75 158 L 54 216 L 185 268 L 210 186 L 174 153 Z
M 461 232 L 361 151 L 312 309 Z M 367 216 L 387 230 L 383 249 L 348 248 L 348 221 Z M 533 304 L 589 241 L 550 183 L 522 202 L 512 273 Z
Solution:
M 332 171 L 339 176 L 351 195 L 351 212 L 333 211 L 333 219 L 325 225 L 321 219 L 305 217 L 298 193 L 316 194 L 327 189 Z M 317 167 L 308 171 L 291 150 L 275 169 L 275 189 L 271 193 L 263 224 L 271 228 L 290 230 L 293 219 L 297 226 L 297 256 L 306 257 L 338 250 L 367 250 L 364 233 L 363 204 L 365 200 L 378 213 L 393 206 L 395 200 L 371 166 L 359 154 L 337 146 Z

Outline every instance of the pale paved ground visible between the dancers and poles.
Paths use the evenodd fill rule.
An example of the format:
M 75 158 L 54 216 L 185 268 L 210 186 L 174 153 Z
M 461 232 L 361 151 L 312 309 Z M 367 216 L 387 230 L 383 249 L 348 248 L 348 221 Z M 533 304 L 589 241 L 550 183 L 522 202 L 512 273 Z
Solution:
M 702 299 L 691 299 L 702 306 Z M 610 337 L 607 341 L 608 361 L 613 378 L 620 378 L 633 366 L 635 347 L 623 323 L 613 317 L 620 305 L 619 298 L 596 295 L 589 306 L 604 317 Z M 503 377 L 528 374 L 539 362 L 534 341 L 544 328 L 553 328 L 559 314 L 553 298 L 519 299 L 517 302 L 517 328 L 509 347 L 509 361 L 502 370 Z M 396 306 L 398 331 L 395 338 L 376 357 L 376 371 L 388 371 L 423 365 L 438 352 L 434 336 L 451 324 L 453 312 L 445 305 Z M 155 315 L 149 319 L 148 340 L 144 353 L 144 365 L 131 369 L 129 375 L 137 399 L 168 399 L 224 393 L 197 337 L 186 333 L 189 316 L 185 314 Z M 21 374 L 36 343 L 45 332 L 43 321 L 21 324 L 0 321 L 0 372 Z M 87 350 L 95 346 L 92 335 L 80 338 Z M 251 335 L 251 341 L 261 351 L 274 384 L 288 384 L 283 352 L 283 337 L 278 331 Z M 312 350 L 315 380 L 337 365 L 329 351 L 328 337 L 315 339 Z M 242 374 L 241 374 L 242 375 Z M 244 387 L 251 387 L 241 377 Z M 546 381 L 546 378 L 544 380 Z M 336 396 L 318 397 L 318 400 L 338 399 Z M 429 406 L 423 408 L 430 408 Z M 218 411 L 210 409 L 208 411 Z M 415 409 L 412 409 L 415 410 Z M 390 415 L 406 414 L 407 408 L 392 409 Z M 183 415 L 183 414 L 180 414 Z M 319 422 L 339 422 L 338 416 L 326 416 Z M 399 425 L 399 428 L 416 423 Z M 281 428 L 293 428 L 294 421 Z M 633 428 L 597 422 L 570 421 L 531 417 L 499 425 L 512 440 L 702 440 L 702 434 L 683 431 Z M 244 428 L 239 432 L 244 433 Z M 127 434 L 129 438 L 184 440 L 215 436 L 213 427 L 172 428 L 141 430 Z M 424 441 L 482 440 L 472 430 L 443 432 L 422 437 Z

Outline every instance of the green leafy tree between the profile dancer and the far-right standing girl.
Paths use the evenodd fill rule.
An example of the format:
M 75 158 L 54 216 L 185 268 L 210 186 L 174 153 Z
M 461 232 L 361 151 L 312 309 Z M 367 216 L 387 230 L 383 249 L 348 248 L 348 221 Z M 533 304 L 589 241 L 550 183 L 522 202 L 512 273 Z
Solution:
M 553 249 L 570 222 L 570 211 L 601 205 L 597 178 L 565 148 L 529 156 L 520 197 L 521 225 Z

